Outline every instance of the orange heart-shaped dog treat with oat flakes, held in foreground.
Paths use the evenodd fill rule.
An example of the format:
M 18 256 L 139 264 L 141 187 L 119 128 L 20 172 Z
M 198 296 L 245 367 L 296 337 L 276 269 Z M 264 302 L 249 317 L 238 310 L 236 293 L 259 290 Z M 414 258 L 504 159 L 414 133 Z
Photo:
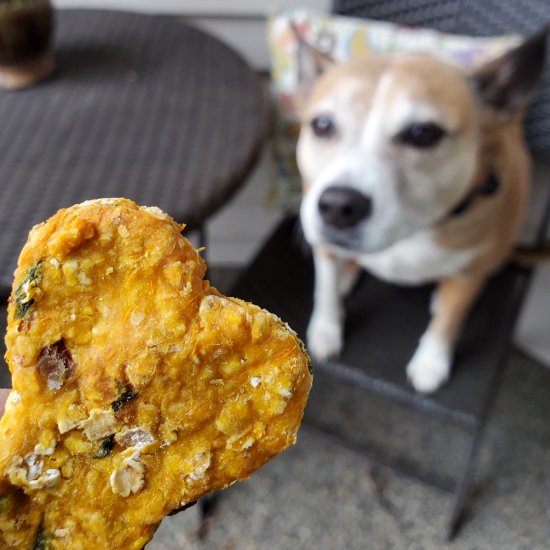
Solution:
M 9 304 L 1 548 L 142 548 L 171 510 L 295 442 L 307 353 L 204 281 L 180 229 L 104 199 L 30 232 Z

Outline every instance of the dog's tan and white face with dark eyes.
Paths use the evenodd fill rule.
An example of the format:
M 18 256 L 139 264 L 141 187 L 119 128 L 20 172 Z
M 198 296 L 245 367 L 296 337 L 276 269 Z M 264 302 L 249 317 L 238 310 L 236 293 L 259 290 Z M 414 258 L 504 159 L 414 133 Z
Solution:
M 330 68 L 302 111 L 308 241 L 376 252 L 445 216 L 473 184 L 478 111 L 466 77 L 426 55 Z

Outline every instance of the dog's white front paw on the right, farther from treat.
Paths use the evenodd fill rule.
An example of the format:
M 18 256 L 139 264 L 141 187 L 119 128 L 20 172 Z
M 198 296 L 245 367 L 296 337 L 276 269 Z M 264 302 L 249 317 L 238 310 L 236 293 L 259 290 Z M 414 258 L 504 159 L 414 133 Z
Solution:
M 407 365 L 407 376 L 417 392 L 433 393 L 449 379 L 451 363 L 449 347 L 427 334 Z

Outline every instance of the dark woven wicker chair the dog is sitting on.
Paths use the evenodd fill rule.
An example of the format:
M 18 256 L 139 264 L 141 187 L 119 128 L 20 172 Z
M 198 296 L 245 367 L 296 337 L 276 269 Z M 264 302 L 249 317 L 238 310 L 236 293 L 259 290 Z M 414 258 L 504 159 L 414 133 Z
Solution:
M 547 0 L 524 0 L 521 8 L 511 0 L 336 0 L 334 11 L 471 35 L 529 34 L 550 20 Z M 548 59 L 550 64 L 550 56 Z M 526 128 L 533 153 L 550 153 L 550 67 L 529 111 Z M 550 193 L 542 203 L 545 208 L 539 209 L 536 222 L 532 222 L 537 227 L 532 239 L 535 243 L 543 240 L 550 222 Z M 303 337 L 312 307 L 313 267 L 300 246 L 293 246 L 295 224 L 292 217 L 283 221 L 233 291 L 277 313 Z M 408 459 L 393 459 L 389 464 L 453 494 L 448 538 L 454 537 L 462 518 L 487 415 L 498 391 L 530 278 L 530 270 L 509 265 L 492 279 L 466 323 L 452 379 L 434 396 L 415 394 L 407 384 L 404 369 L 428 322 L 432 287 L 405 289 L 365 276 L 346 306 L 347 334 L 342 356 L 338 361 L 317 365 L 318 372 L 414 407 L 469 435 L 463 464 L 452 480 L 426 472 L 425 467 L 411 464 Z M 508 299 L 503 300 L 503 296 Z M 370 312 L 370 322 L 365 321 L 365 311 Z M 321 422 L 322 416 L 309 414 L 306 420 L 323 434 L 371 459 L 379 459 L 380 453 L 375 456 L 372 449 L 343 437 L 344 432 L 349 433 L 346 426 L 335 428 L 330 420 L 323 418 Z

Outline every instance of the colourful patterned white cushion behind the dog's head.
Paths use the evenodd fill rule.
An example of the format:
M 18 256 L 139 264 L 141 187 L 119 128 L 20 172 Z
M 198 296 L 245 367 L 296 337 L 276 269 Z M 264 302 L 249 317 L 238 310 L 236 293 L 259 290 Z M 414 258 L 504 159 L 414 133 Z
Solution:
M 272 141 L 271 198 L 280 206 L 296 207 L 300 177 L 296 165 L 299 124 L 298 38 L 336 61 L 358 55 L 429 52 L 466 70 L 494 59 L 519 43 L 517 35 L 479 38 L 445 34 L 431 29 L 327 15 L 306 8 L 285 9 L 270 18 L 272 96 L 275 106 Z

